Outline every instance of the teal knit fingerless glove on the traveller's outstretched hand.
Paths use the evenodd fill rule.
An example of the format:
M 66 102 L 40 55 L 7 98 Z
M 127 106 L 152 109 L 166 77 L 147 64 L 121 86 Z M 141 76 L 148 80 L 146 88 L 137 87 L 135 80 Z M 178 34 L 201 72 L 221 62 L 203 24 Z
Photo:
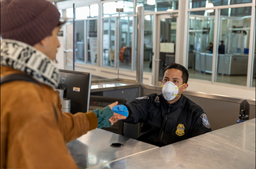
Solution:
M 98 118 L 98 128 L 110 127 L 111 123 L 108 121 L 113 115 L 114 111 L 111 110 L 109 106 L 106 106 L 104 109 L 93 110 Z

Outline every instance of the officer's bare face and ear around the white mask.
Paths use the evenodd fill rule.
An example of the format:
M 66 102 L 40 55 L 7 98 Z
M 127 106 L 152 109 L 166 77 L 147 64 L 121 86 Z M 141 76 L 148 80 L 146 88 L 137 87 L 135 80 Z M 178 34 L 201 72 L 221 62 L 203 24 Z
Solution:
M 183 85 L 183 80 L 182 80 L 182 72 L 178 69 L 167 69 L 164 72 L 164 78 L 162 80 L 162 83 L 166 83 L 167 81 L 171 81 L 178 87 Z M 184 92 L 188 88 L 188 84 L 185 84 L 179 88 L 178 95 L 181 95 L 182 92 Z

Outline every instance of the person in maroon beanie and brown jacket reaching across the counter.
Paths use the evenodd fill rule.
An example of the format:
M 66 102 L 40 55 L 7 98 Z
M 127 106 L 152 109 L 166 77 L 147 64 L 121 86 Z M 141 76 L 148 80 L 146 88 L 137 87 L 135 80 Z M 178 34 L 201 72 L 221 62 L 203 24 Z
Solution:
M 111 110 L 61 113 L 54 65 L 60 13 L 45 0 L 2 0 L 1 81 L 18 74 L 31 81 L 1 85 L 1 168 L 77 168 L 66 143 L 96 127 L 125 119 Z M 3 78 L 3 79 L 2 79 Z M 114 116 L 113 116 L 114 115 Z

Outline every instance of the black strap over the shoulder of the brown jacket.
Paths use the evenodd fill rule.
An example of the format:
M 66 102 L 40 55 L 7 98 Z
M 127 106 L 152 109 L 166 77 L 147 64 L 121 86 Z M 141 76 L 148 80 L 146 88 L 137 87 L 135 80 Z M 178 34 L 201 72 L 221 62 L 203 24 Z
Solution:
M 4 76 L 0 79 L 0 85 L 4 83 L 8 83 L 11 81 L 28 81 L 36 83 L 37 85 L 41 86 L 41 84 L 36 81 L 33 77 L 29 76 L 28 74 L 16 73 Z

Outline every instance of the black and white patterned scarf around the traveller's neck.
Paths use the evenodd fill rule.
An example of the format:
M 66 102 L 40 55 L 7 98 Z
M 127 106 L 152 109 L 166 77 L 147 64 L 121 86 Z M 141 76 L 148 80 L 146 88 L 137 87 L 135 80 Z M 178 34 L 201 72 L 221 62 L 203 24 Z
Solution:
M 15 40 L 1 40 L 1 66 L 12 67 L 37 81 L 57 88 L 59 70 L 53 61 L 34 47 Z

